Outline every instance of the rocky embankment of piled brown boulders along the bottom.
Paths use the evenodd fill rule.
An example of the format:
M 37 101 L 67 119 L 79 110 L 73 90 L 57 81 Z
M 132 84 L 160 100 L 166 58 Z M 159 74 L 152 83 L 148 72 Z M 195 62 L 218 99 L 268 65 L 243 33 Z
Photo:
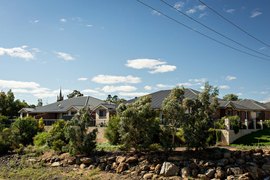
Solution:
M 213 155 L 213 154 L 212 154 Z M 210 158 L 211 157 L 211 158 Z M 100 171 L 118 173 L 121 175 L 138 176 L 143 179 L 163 179 L 164 177 L 180 176 L 199 179 L 263 179 L 270 176 L 270 150 L 260 148 L 252 150 L 227 151 L 213 158 L 202 154 L 200 158 L 185 154 L 185 156 L 150 155 L 132 156 L 102 156 L 102 157 L 69 157 L 69 158 L 39 158 L 29 159 L 29 164 L 38 162 L 45 166 L 74 166 L 87 171 L 99 168 Z

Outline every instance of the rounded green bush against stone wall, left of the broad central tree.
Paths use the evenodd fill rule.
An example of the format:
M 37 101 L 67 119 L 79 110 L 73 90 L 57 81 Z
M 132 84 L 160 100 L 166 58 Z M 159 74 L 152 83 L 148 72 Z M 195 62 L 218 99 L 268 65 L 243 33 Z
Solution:
M 104 131 L 104 137 L 109 140 L 112 145 L 120 144 L 120 135 L 118 132 L 118 126 L 120 123 L 120 117 L 113 115 L 111 120 L 107 123 L 108 127 Z

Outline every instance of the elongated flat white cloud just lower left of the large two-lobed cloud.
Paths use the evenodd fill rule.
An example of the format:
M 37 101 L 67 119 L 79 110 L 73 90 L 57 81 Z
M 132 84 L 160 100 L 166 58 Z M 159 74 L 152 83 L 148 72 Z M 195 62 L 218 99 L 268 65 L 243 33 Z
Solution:
M 94 76 L 92 81 L 100 84 L 115 84 L 115 83 L 140 83 L 141 78 L 129 76 L 111 76 L 111 75 L 103 75 L 99 74 L 98 76 Z

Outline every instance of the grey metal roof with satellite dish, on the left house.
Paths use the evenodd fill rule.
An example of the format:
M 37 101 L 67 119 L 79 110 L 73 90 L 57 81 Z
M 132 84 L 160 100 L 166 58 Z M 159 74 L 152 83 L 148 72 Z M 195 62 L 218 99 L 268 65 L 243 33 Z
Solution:
M 89 104 L 91 110 L 99 104 L 104 103 L 104 101 L 100 99 L 96 99 L 91 96 L 81 96 L 81 97 L 72 97 L 69 99 L 64 99 L 59 102 L 55 102 L 52 104 L 48 104 L 46 106 L 41 106 L 39 108 L 35 108 L 31 113 L 41 113 L 41 112 L 66 112 L 71 106 L 81 109 L 83 106 Z

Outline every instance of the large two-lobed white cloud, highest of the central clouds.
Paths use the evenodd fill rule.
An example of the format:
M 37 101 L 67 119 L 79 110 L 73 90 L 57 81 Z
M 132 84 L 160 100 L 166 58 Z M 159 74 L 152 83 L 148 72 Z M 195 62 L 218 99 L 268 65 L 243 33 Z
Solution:
M 167 62 L 162 62 L 159 60 L 154 59 L 136 59 L 136 60 L 128 60 L 128 63 L 125 64 L 127 67 L 135 68 L 135 69 L 155 69 L 153 71 L 148 71 L 151 74 L 158 73 L 158 72 L 169 72 L 174 71 L 176 66 L 165 65 Z

